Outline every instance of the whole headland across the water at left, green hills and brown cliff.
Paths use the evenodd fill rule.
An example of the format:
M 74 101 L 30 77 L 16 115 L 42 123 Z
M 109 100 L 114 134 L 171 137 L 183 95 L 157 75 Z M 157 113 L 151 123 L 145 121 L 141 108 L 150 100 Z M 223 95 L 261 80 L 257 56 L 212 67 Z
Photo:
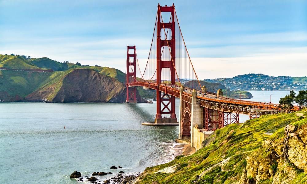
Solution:
M 0 102 L 125 102 L 125 78 L 115 68 L 0 55 Z M 138 102 L 139 91 L 148 98 L 147 91 L 138 88 Z

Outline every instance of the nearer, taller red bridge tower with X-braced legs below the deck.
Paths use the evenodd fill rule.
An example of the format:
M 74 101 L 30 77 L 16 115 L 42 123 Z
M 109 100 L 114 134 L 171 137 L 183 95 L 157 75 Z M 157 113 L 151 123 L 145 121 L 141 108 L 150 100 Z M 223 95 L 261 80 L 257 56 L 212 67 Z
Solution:
M 171 13 L 169 20 L 163 20 L 161 13 Z M 166 21 L 166 22 L 165 22 Z M 168 22 L 169 21 L 169 22 Z M 166 32 L 171 32 L 171 36 L 167 36 Z M 158 4 L 157 12 L 157 85 L 161 84 L 161 73 L 163 68 L 170 70 L 170 83 L 175 85 L 175 6 L 160 6 Z M 164 50 L 164 51 L 163 51 Z M 169 59 L 162 56 L 163 52 L 169 53 Z M 163 57 L 163 58 L 162 58 Z M 162 117 L 162 116 L 169 117 Z M 157 88 L 157 114 L 155 123 L 177 123 L 175 113 L 175 97 L 165 94 Z

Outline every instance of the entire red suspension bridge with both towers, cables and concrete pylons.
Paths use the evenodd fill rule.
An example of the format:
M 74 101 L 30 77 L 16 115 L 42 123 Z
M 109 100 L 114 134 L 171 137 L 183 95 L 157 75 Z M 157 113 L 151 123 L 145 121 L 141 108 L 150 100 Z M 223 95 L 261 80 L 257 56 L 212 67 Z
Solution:
M 131 51 L 131 53 L 130 53 Z M 152 123 L 179 125 L 179 138 L 199 149 L 212 131 L 239 123 L 239 114 L 257 118 L 280 112 L 278 104 L 252 102 L 209 92 L 198 80 L 178 22 L 175 6 L 158 5 L 150 52 L 141 72 L 135 46 L 127 47 L 127 103 L 136 103 L 135 86 L 157 92 L 157 113 Z M 179 114 L 175 103 L 179 99 Z M 177 117 L 179 123 L 177 123 Z

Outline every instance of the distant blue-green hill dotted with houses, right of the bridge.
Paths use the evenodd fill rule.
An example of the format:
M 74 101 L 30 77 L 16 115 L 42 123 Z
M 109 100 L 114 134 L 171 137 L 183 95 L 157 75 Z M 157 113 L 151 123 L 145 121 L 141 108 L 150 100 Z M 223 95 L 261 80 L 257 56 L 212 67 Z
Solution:
M 306 90 L 307 88 L 307 77 L 274 77 L 253 73 L 204 81 L 219 82 L 231 90 Z

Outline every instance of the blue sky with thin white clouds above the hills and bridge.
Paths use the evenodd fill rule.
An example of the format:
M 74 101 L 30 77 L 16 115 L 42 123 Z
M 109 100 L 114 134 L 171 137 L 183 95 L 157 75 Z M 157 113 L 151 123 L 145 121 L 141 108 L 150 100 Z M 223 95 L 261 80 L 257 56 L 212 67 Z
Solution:
M 125 71 L 135 44 L 142 67 L 159 2 L 174 3 L 199 79 L 307 75 L 306 0 L 0 0 L 0 54 Z

